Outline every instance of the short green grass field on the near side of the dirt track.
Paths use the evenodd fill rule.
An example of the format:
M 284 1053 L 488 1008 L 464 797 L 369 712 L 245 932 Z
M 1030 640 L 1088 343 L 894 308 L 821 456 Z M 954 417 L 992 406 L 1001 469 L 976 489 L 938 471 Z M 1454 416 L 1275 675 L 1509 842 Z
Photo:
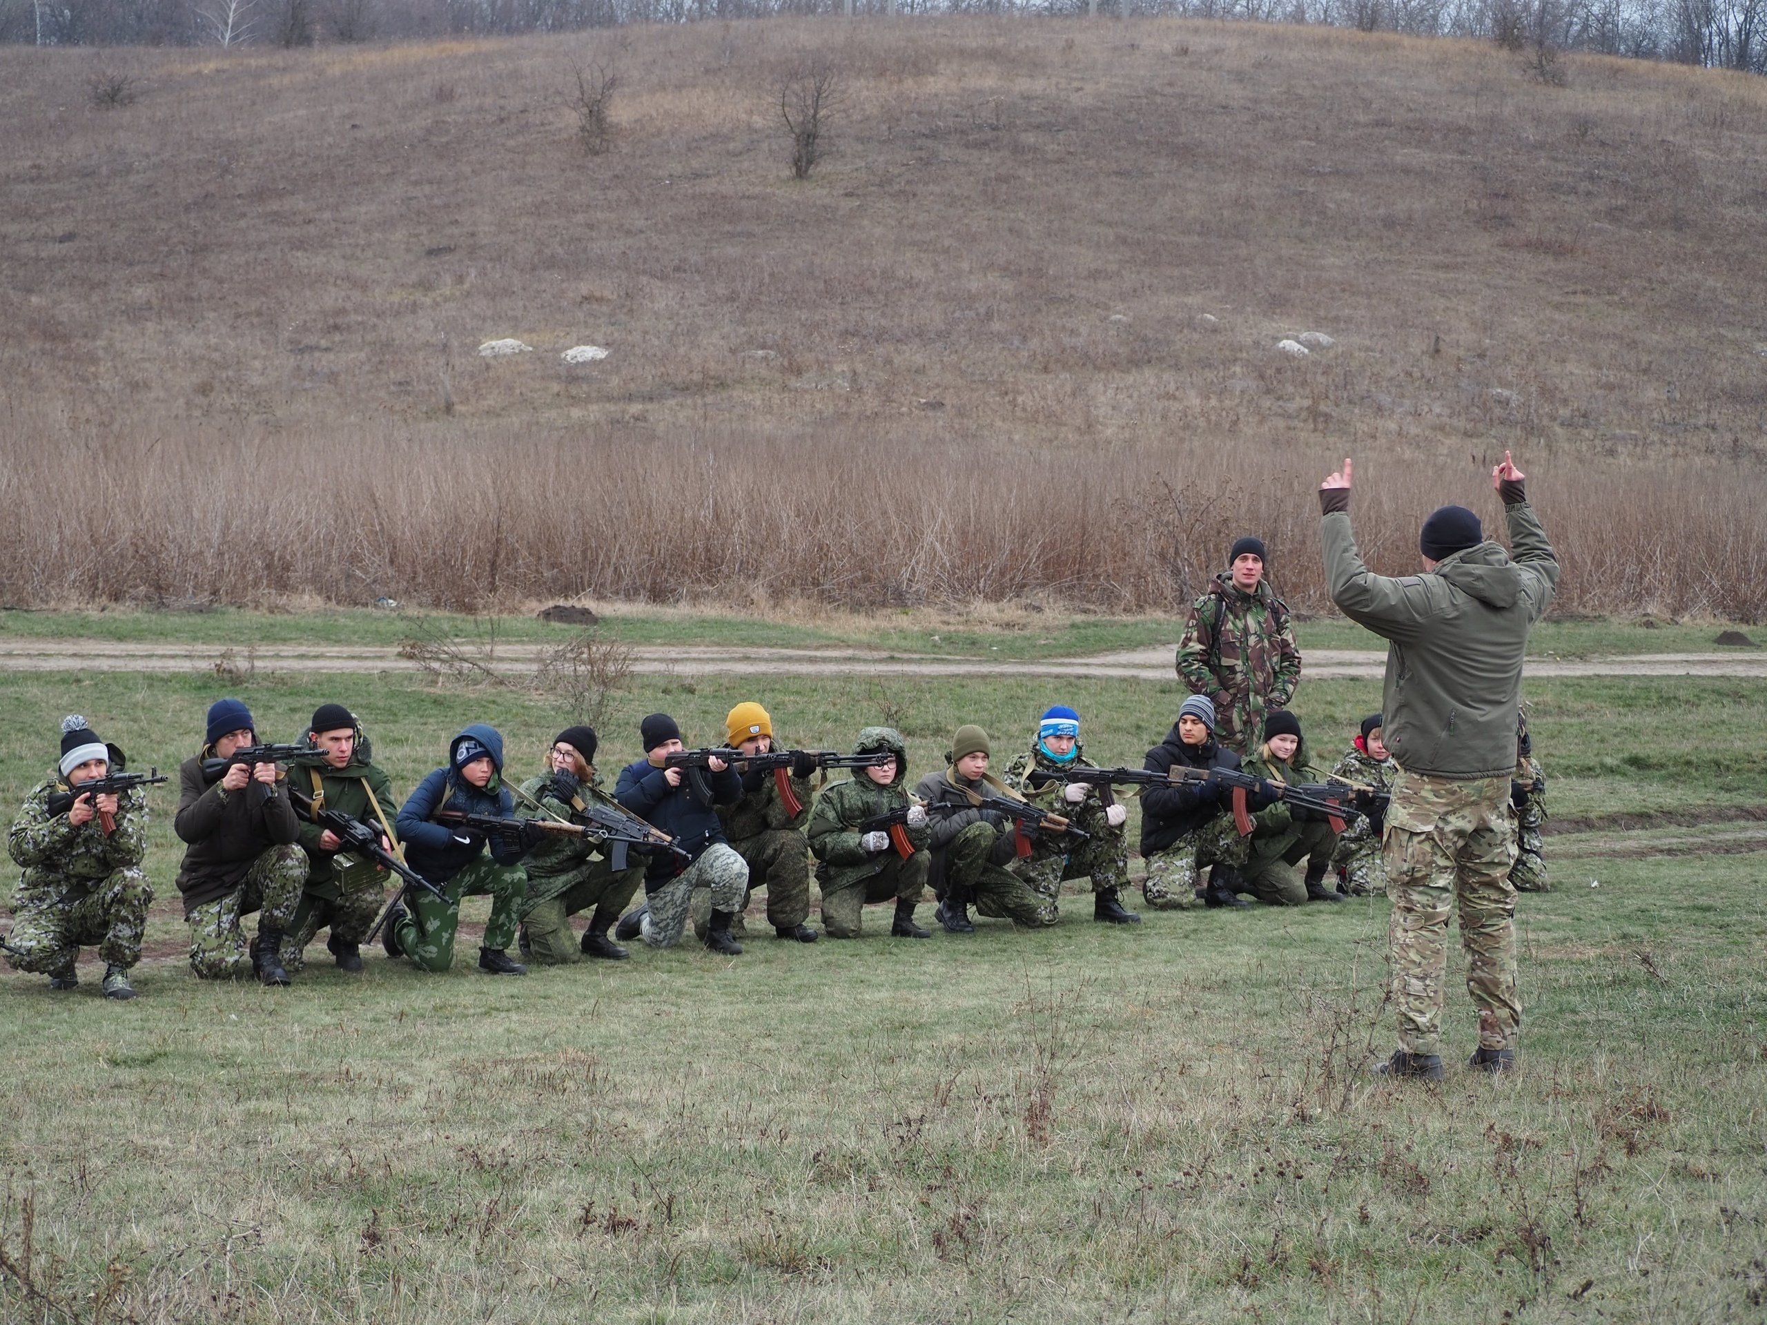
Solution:
M 141 998 L 104 1003 L 90 961 L 72 995 L 0 975 L 0 1320 L 1760 1320 L 1767 684 L 1528 691 L 1576 832 L 1521 899 L 1523 1071 L 1438 1088 L 1368 1074 L 1392 1041 L 1384 899 L 1120 931 L 1076 894 L 1051 931 L 924 943 L 876 908 L 857 943 L 755 935 L 737 959 L 491 980 L 376 952 L 345 977 L 315 949 L 293 989 L 198 984 L 161 788 Z M 166 770 L 217 693 L 4 675 L 0 799 L 65 712 Z M 751 696 L 815 744 L 891 716 L 924 770 L 956 723 L 1016 746 L 1053 701 L 1090 756 L 1138 761 L 1180 691 L 640 678 L 601 765 L 652 708 L 710 740 Z M 242 698 L 279 738 L 350 703 L 399 791 L 466 721 L 523 776 L 564 724 L 403 675 L 260 671 Z M 1297 712 L 1325 756 L 1376 703 L 1308 682 Z

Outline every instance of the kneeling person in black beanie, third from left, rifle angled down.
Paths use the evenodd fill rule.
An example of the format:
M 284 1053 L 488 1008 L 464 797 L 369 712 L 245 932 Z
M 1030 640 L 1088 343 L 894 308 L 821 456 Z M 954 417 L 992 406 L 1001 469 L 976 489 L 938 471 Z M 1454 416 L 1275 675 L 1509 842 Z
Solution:
M 369 744 L 355 714 L 341 703 L 322 703 L 307 723 L 307 744 L 320 754 L 302 754 L 290 763 L 290 784 L 313 797 L 315 813 L 334 809 L 353 820 L 380 829 L 380 846 L 392 844 L 392 818 L 399 802 L 392 783 L 375 763 Z M 325 949 L 337 970 L 362 970 L 362 940 L 380 915 L 387 899 L 387 871 L 371 859 L 341 850 L 343 843 L 330 829 L 311 820 L 300 822 L 300 850 L 307 853 L 307 883 L 300 905 L 283 940 L 283 966 L 299 973 L 306 966 L 306 947 L 320 929 L 330 929 Z

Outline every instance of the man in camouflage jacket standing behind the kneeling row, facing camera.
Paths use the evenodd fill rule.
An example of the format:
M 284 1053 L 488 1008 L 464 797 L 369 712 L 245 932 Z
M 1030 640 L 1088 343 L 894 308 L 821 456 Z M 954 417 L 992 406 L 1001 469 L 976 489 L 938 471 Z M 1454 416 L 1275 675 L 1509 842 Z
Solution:
M 1179 680 L 1214 703 L 1216 740 L 1235 754 L 1258 742 L 1263 716 L 1286 708 L 1301 682 L 1295 627 L 1263 578 L 1267 560 L 1262 539 L 1235 542 L 1179 643 Z

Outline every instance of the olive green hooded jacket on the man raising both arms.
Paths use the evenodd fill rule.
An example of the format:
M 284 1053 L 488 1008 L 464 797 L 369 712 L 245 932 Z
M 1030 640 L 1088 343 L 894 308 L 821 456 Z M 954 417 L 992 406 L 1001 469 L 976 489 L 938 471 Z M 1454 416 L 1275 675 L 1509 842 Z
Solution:
M 1362 564 L 1348 512 L 1320 523 L 1332 602 L 1389 641 L 1382 735 L 1405 772 L 1474 779 L 1516 767 L 1521 654 L 1558 558 L 1525 500 L 1504 514 L 1514 558 L 1486 541 L 1398 579 Z

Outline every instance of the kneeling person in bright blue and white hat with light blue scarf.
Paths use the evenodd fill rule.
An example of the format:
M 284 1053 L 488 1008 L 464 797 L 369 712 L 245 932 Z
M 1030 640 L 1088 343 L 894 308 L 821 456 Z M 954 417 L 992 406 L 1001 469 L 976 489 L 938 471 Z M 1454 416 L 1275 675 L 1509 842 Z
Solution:
M 1002 781 L 1025 800 L 1051 814 L 1060 814 L 1085 834 L 1087 841 L 1069 846 L 1053 834 L 1037 834 L 1030 857 L 1007 866 L 1050 901 L 1057 901 L 1062 883 L 1071 878 L 1092 882 L 1092 919 L 1104 924 L 1140 924 L 1141 917 L 1124 908 L 1119 892 L 1129 887 L 1129 843 L 1124 823 L 1129 811 L 1111 800 L 1104 804 L 1097 790 L 1085 783 L 1030 784 L 1032 770 L 1067 772 L 1097 768 L 1080 753 L 1080 714 L 1067 705 L 1050 708 L 1037 719 L 1032 747 L 1007 765 Z

